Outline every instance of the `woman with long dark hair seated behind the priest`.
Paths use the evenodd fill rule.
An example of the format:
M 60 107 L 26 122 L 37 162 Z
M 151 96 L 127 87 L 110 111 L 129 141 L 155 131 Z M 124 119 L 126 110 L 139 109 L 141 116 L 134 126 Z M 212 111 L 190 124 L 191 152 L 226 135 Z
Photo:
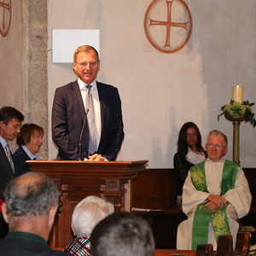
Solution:
M 173 166 L 177 177 L 177 207 L 182 207 L 183 183 L 191 166 L 206 160 L 207 154 L 201 146 L 201 133 L 193 122 L 185 123 L 179 131 L 177 153 Z

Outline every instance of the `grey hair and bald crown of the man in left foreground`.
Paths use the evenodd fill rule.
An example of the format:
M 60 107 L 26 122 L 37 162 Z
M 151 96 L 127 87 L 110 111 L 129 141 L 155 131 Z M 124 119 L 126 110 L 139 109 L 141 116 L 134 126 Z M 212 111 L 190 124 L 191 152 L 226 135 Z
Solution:
M 57 206 L 60 195 L 52 179 L 39 172 L 26 172 L 9 182 L 4 202 L 13 217 L 38 216 Z

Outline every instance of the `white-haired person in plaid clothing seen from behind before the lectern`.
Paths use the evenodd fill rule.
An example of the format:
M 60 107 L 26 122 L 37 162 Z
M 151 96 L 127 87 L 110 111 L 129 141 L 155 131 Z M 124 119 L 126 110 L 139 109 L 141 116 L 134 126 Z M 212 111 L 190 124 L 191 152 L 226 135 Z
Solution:
M 102 198 L 90 195 L 80 201 L 72 215 L 74 241 L 71 241 L 64 252 L 72 255 L 90 255 L 90 234 L 96 224 L 113 213 L 113 204 Z

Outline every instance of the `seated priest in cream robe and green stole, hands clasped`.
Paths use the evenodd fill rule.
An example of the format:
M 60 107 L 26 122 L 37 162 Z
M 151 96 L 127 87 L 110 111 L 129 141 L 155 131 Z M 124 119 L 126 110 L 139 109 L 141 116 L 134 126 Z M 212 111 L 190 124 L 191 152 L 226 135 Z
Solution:
M 177 249 L 195 250 L 199 243 L 217 249 L 219 235 L 232 235 L 238 218 L 250 210 L 252 195 L 241 167 L 223 157 L 228 151 L 224 133 L 213 130 L 207 138 L 208 158 L 191 167 L 183 185 L 183 212 L 188 219 L 177 228 Z

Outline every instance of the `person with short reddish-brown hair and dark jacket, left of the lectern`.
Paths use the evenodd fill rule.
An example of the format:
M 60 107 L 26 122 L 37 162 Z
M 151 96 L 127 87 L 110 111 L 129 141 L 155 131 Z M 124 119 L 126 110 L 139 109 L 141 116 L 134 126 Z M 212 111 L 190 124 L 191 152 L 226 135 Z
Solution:
M 24 124 L 17 135 L 19 148 L 13 154 L 15 170 L 19 175 L 29 172 L 26 160 L 38 160 L 38 152 L 44 143 L 44 129 L 36 124 Z

